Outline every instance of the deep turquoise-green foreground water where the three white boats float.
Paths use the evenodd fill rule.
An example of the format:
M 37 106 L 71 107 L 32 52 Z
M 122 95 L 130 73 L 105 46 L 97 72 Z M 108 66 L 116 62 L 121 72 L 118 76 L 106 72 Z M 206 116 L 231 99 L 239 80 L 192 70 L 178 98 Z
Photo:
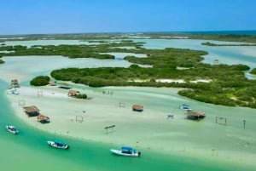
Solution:
M 177 154 L 162 154 L 155 151 L 143 149 L 143 155 L 140 158 L 117 157 L 113 156 L 110 148 L 118 148 L 119 146 L 113 144 L 103 144 L 101 142 L 74 140 L 68 137 L 61 137 L 56 134 L 49 134 L 32 128 L 23 123 L 9 108 L 6 96 L 3 93 L 7 83 L 0 83 L 1 107 L 0 107 L 0 165 L 1 169 L 5 170 L 254 170 L 252 166 L 247 166 L 243 162 L 236 163 L 231 160 L 220 161 L 218 157 L 207 157 L 206 159 L 189 157 L 186 151 L 181 151 Z M 147 92 L 148 90 L 144 90 Z M 150 93 L 150 90 L 148 91 Z M 191 102 L 195 105 L 197 102 Z M 163 104 L 166 105 L 166 104 Z M 213 109 L 212 109 L 213 110 Z M 220 109 L 221 110 L 221 109 Z M 232 110 L 235 110 L 232 108 Z M 231 111 L 232 111 L 231 110 Z M 242 110 L 241 111 L 247 111 Z M 250 110 L 248 110 L 250 111 Z M 210 112 L 210 111 L 208 111 Z M 239 117 L 239 116 L 237 116 Z M 207 117 L 207 119 L 211 116 Z M 235 117 L 234 120 L 239 119 Z M 230 121 L 231 122 L 231 121 Z M 7 124 L 14 124 L 19 130 L 20 134 L 9 134 L 4 126 Z M 248 122 L 249 123 L 249 122 Z M 248 124 L 248 130 L 254 129 L 252 124 Z M 237 125 L 235 125 L 236 127 Z M 230 128 L 232 129 L 232 128 Z M 221 129 L 219 129 L 221 130 Z M 238 131 L 242 129 L 238 128 Z M 229 131 L 229 128 L 226 129 Z M 192 131 L 193 133 L 193 131 Z M 249 132 L 252 133 L 252 132 Z M 241 134 L 241 133 L 239 133 Z M 249 134 L 245 134 L 249 136 Z M 191 136 L 193 137 L 193 136 Z M 191 138 L 190 137 L 190 138 Z M 61 139 L 65 140 L 71 148 L 68 151 L 56 150 L 46 144 L 46 140 Z M 186 140 L 186 139 L 184 139 Z M 236 139 L 234 139 L 236 140 Z M 196 140 L 195 140 L 196 141 Z M 232 138 L 230 138 L 232 142 Z M 218 142 L 221 144 L 221 142 Z M 224 140 L 224 149 L 228 148 L 227 140 Z M 238 145 L 240 146 L 240 145 Z M 160 151 L 161 152 L 161 151 Z M 196 152 L 195 152 L 196 155 Z M 252 160 L 252 159 L 251 159 Z M 14 164 L 15 162 L 15 164 Z

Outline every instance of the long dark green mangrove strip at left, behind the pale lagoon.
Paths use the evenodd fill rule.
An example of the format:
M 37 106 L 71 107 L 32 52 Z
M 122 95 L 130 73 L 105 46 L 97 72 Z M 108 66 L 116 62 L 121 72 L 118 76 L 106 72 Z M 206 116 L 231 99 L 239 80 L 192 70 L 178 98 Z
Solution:
M 96 59 L 114 59 L 111 54 L 101 54 L 102 52 L 131 52 L 124 48 L 113 48 L 122 46 L 141 47 L 143 43 L 108 43 L 99 45 L 34 45 L 31 48 L 26 46 L 3 46 L 0 50 L 9 51 L 9 53 L 3 53 L 5 56 L 17 56 L 17 55 L 62 55 L 69 58 L 96 58 Z M 132 52 L 137 53 L 136 49 Z

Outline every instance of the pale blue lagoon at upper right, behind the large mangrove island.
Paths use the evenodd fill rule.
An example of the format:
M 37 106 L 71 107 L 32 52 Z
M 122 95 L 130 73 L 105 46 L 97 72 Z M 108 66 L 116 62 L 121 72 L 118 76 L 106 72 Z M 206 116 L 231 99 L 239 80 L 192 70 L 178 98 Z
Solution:
M 191 40 L 191 39 L 133 39 L 134 42 L 144 42 L 143 48 L 189 48 L 196 50 L 205 50 L 209 54 L 203 56 L 206 63 L 214 64 L 218 60 L 219 64 L 244 64 L 251 68 L 256 67 L 256 48 L 255 47 L 210 47 L 201 45 L 201 43 L 229 43 L 209 40 Z M 234 44 L 234 43 L 231 43 Z M 251 54 L 243 54 L 246 51 L 253 51 Z

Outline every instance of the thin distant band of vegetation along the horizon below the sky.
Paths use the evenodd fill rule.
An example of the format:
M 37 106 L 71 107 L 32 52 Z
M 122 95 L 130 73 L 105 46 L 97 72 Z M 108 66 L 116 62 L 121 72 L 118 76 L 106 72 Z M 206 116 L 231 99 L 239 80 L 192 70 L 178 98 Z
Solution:
M 86 42 L 108 43 L 113 39 L 132 39 L 134 37 L 160 38 L 160 39 L 203 39 L 203 40 L 217 40 L 227 42 L 241 42 L 241 43 L 256 43 L 255 35 L 238 35 L 238 34 L 207 34 L 204 32 L 143 32 L 143 33 L 74 33 L 74 34 L 34 34 L 34 35 L 9 35 L 0 36 L 4 41 L 28 41 L 28 40 L 81 40 Z M 0 42 L 4 43 L 3 40 Z

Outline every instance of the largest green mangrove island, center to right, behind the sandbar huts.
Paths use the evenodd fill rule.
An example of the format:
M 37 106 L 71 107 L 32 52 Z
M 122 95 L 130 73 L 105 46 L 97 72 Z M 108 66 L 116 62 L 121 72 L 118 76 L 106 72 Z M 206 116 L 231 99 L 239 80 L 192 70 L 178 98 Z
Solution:
M 216 105 L 247 106 L 256 108 L 256 81 L 248 80 L 244 65 L 209 65 L 201 63 L 204 51 L 166 48 L 163 50 L 140 49 L 148 58 L 127 56 L 134 65 L 129 68 L 67 68 L 51 72 L 57 80 L 82 83 L 90 87 L 143 86 L 184 88 L 178 94 L 194 100 Z M 152 67 L 139 67 L 137 64 Z M 178 69 L 183 67 L 183 70 Z M 185 83 L 161 83 L 160 79 L 183 79 Z M 209 83 L 193 83 L 198 79 Z M 140 80 L 137 82 L 136 80 Z

